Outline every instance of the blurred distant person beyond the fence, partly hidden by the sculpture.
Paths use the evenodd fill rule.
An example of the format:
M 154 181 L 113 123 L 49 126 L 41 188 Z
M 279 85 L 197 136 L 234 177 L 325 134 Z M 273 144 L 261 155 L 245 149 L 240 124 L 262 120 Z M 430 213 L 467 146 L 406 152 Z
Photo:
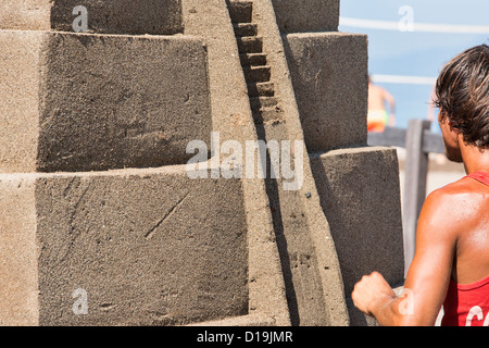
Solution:
M 386 110 L 386 103 L 389 104 L 390 113 Z M 368 132 L 381 133 L 386 125 L 393 126 L 396 124 L 394 109 L 394 98 L 385 88 L 374 85 L 368 77 Z

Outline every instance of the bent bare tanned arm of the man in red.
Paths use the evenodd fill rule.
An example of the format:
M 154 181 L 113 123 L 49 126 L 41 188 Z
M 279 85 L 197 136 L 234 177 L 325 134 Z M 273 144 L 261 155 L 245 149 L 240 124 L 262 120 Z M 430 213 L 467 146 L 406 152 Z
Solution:
M 406 276 L 404 297 L 397 297 L 378 273 L 355 285 L 352 299 L 380 325 L 434 325 L 447 295 L 455 250 L 457 223 L 450 195 L 431 194 L 419 215 L 416 253 Z

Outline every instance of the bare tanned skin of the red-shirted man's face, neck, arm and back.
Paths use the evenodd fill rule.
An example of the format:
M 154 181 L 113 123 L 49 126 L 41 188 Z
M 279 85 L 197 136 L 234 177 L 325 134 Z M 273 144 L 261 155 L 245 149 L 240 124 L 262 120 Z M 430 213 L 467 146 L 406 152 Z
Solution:
M 463 162 L 467 174 L 489 173 L 489 150 L 465 144 L 461 132 L 439 114 L 447 157 Z M 354 287 L 356 308 L 380 325 L 434 325 L 450 278 L 472 284 L 489 275 L 489 187 L 463 178 L 430 194 L 421 212 L 416 252 L 404 288 L 411 290 L 413 310 L 402 311 L 405 298 L 396 297 L 389 284 L 374 272 Z

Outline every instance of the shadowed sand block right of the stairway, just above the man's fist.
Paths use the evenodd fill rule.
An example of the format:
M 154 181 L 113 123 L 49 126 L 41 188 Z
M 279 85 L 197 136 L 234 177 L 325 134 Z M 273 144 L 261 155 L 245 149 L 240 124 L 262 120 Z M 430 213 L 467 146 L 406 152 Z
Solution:
M 315 153 L 311 165 L 338 252 L 346 297 L 351 297 L 364 274 L 374 271 L 391 286 L 401 284 L 404 251 L 396 149 Z M 352 325 L 356 324 L 359 319 L 352 318 Z

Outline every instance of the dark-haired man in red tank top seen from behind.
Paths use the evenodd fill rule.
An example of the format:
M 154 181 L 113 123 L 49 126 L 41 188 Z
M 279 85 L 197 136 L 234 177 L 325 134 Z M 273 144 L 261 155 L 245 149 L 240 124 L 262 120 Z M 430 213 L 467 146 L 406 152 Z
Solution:
M 467 176 L 428 196 L 406 275 L 397 297 L 384 277 L 364 276 L 354 304 L 380 325 L 489 326 L 489 47 L 450 61 L 437 80 L 438 122 L 447 157 Z

